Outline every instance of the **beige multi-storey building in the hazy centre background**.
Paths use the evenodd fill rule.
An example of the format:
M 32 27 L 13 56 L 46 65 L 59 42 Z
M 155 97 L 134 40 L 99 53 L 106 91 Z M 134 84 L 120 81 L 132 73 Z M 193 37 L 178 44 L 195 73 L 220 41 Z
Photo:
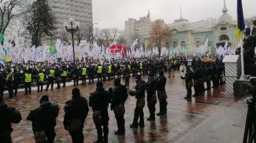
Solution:
M 141 45 L 147 45 L 149 41 L 152 21 L 150 20 L 150 13 L 147 17 L 140 17 L 136 19 L 128 19 L 125 21 L 125 37 L 127 37 L 127 45 L 131 45 L 134 40 L 138 39 Z

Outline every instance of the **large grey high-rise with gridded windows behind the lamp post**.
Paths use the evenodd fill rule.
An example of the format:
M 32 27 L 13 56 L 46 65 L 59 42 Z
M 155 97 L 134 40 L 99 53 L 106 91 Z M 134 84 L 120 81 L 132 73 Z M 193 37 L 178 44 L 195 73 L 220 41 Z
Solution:
M 51 0 L 48 3 L 53 14 L 55 34 L 65 31 L 63 23 L 68 22 L 70 17 L 80 23 L 80 28 L 93 26 L 92 0 Z

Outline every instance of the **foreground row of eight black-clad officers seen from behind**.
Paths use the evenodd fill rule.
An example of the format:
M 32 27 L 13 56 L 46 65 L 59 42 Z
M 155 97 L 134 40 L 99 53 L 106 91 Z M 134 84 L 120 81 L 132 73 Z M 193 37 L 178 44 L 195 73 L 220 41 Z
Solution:
M 102 81 L 98 81 L 95 92 L 89 97 L 89 102 L 81 96 L 80 89 L 74 88 L 72 91 L 72 99 L 66 102 L 64 107 L 64 129 L 68 131 L 74 143 L 84 142 L 82 133 L 84 122 L 87 118 L 89 107 L 93 109 L 93 122 L 97 129 L 98 140 L 95 142 L 108 142 L 109 135 L 109 114 L 108 107 L 115 114 L 118 130 L 116 135 L 125 134 L 125 102 L 128 93 L 136 98 L 136 107 L 134 110 L 134 120 L 130 124 L 132 129 L 143 129 L 145 107 L 145 91 L 147 91 L 147 107 L 150 115 L 148 121 L 154 122 L 156 102 L 160 104 L 160 111 L 156 115 L 167 115 L 167 94 L 165 92 L 166 78 L 163 72 L 159 72 L 159 76 L 154 78 L 154 74 L 149 74 L 147 83 L 142 80 L 141 76 L 136 76 L 136 86 L 134 90 L 127 91 L 125 85 L 121 85 L 120 79 L 116 78 L 113 82 L 114 87 L 105 90 Z M 157 95 L 156 95 L 157 93 Z M 54 142 L 56 133 L 56 118 L 60 111 L 57 104 L 52 104 L 48 96 L 42 96 L 39 100 L 40 106 L 30 111 L 27 120 L 32 121 L 35 142 Z M 10 143 L 13 129 L 12 123 L 21 121 L 21 114 L 14 108 L 9 108 L 3 98 L 0 98 L 0 142 Z M 139 122 L 138 122 L 139 120 Z

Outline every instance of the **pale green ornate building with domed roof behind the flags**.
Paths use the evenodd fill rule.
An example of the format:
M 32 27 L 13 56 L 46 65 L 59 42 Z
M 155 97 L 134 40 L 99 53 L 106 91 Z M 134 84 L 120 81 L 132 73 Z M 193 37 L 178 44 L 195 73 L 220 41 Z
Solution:
M 171 47 L 199 47 L 205 43 L 208 39 L 212 51 L 215 47 L 220 45 L 224 46 L 226 42 L 231 47 L 237 46 L 236 40 L 236 21 L 228 14 L 228 8 L 226 8 L 226 3 L 224 3 L 223 14 L 214 23 L 209 23 L 209 21 L 197 21 L 190 23 L 187 19 L 180 19 L 171 23 L 170 30 L 172 36 Z

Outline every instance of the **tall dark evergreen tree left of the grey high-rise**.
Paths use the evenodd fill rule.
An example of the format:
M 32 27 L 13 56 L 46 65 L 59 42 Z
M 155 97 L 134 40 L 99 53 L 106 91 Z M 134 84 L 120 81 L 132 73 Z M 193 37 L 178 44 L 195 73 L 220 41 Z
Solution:
M 37 0 L 32 4 L 28 31 L 31 34 L 32 45 L 41 45 L 42 36 L 53 36 L 53 19 L 48 0 Z

